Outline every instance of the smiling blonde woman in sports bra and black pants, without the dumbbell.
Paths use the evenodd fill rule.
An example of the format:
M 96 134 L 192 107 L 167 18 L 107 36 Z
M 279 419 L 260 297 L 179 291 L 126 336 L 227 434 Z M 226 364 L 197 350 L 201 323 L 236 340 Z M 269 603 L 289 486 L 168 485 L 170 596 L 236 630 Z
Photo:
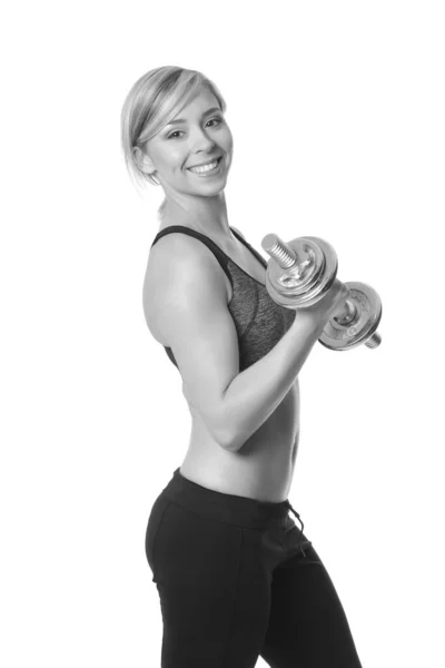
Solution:
M 298 312 L 270 298 L 267 263 L 228 223 L 225 111 L 204 75 L 160 67 L 134 85 L 121 115 L 130 175 L 166 195 L 144 310 L 192 419 L 146 532 L 161 666 L 248 668 L 261 656 L 274 668 L 359 668 L 336 590 L 287 499 L 298 373 L 344 288 L 336 281 Z

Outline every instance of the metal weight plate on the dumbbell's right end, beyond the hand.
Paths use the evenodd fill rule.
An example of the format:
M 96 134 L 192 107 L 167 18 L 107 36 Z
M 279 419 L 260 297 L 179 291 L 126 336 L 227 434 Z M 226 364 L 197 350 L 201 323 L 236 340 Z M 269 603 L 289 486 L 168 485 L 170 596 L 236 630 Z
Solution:
M 350 281 L 345 283 L 357 308 L 357 316 L 347 325 L 333 317 L 325 326 L 320 338 L 324 346 L 333 351 L 348 351 L 366 343 L 377 330 L 382 318 L 382 302 L 369 285 Z

